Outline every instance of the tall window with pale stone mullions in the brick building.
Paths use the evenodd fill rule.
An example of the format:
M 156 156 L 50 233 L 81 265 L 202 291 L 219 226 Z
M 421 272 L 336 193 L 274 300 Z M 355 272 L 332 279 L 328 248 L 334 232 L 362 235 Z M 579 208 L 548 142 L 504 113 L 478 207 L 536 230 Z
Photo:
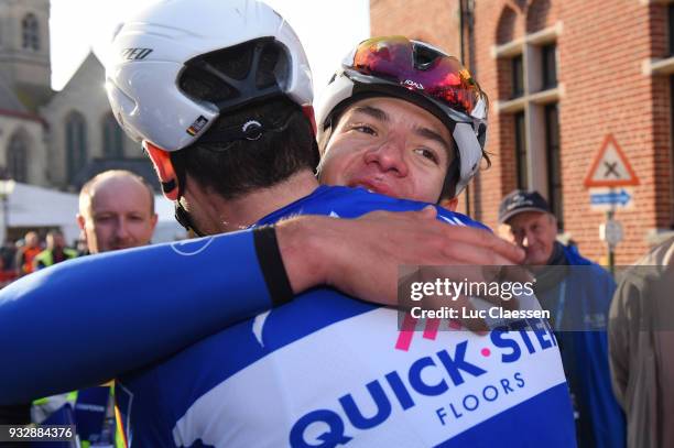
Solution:
M 557 42 L 562 23 L 552 24 L 550 0 L 514 3 L 522 6 L 525 33 L 514 40 L 518 33 L 506 33 L 504 25 L 499 23 L 497 32 L 510 35 L 511 40 L 498 41 L 493 48 L 498 58 L 497 109 L 504 116 L 503 123 L 508 123 L 501 127 L 501 136 L 503 142 L 512 142 L 514 146 L 507 152 L 510 155 L 508 166 L 513 171 L 509 177 L 514 181 L 508 187 L 517 185 L 521 189 L 537 190 L 559 214 L 562 168 L 556 105 L 561 101 L 557 78 L 562 67 L 557 66 Z M 514 26 L 514 22 L 508 25 Z

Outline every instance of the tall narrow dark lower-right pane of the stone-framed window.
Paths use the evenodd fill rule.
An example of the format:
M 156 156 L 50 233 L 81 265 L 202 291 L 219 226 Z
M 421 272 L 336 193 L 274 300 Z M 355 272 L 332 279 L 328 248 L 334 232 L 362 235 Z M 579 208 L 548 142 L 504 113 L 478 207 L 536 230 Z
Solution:
M 550 207 L 564 230 L 562 206 L 562 157 L 559 154 L 559 110 L 557 103 L 545 106 L 545 156 L 547 159 L 547 196 Z

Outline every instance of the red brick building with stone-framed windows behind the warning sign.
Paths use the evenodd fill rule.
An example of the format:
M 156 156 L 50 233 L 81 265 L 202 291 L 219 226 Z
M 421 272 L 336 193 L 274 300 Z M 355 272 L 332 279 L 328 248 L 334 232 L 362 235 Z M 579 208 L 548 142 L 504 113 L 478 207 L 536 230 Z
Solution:
M 612 135 L 640 184 L 616 214 L 618 264 L 674 225 L 674 3 L 666 0 L 370 0 L 372 35 L 405 34 L 464 61 L 490 98 L 488 151 L 464 201 L 497 223 L 502 196 L 535 188 L 581 253 L 602 260 L 584 179 Z

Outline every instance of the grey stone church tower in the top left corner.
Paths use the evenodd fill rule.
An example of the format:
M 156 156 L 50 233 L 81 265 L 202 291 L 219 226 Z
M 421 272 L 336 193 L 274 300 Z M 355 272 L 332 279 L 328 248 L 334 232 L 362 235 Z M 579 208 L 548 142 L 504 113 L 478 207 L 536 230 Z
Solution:
M 51 97 L 50 0 L 0 0 L 0 74 L 29 110 Z

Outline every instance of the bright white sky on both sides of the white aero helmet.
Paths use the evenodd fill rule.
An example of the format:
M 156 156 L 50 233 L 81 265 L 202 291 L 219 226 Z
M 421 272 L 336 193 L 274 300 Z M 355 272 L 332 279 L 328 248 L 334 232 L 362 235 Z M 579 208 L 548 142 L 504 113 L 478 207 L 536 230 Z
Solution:
M 157 0 L 52 0 L 52 87 L 61 90 L 88 52 L 102 58 L 117 24 Z M 370 33 L 369 0 L 267 0 L 304 44 L 318 92 Z M 102 83 L 102 79 L 101 79 Z

